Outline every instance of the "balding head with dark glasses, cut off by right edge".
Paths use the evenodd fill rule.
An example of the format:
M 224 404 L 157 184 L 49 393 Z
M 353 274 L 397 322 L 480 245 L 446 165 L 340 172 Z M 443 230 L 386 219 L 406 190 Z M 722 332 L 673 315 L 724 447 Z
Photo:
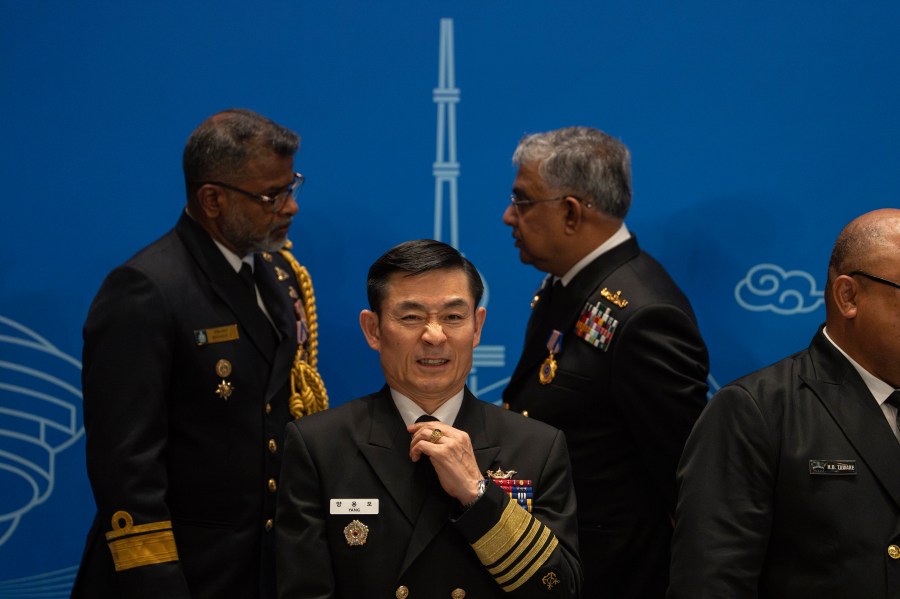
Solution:
M 900 388 L 900 210 L 863 214 L 841 231 L 828 265 L 828 335 L 867 371 Z

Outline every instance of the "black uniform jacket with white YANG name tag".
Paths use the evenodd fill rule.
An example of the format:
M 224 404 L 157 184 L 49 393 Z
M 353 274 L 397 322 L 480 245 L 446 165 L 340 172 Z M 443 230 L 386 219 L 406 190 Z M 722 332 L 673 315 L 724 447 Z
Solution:
M 433 470 L 430 486 L 420 469 L 431 466 L 410 459 L 411 436 L 387 387 L 289 424 L 279 596 L 576 597 L 575 496 L 562 433 L 468 390 L 454 427 L 469 434 L 482 474 L 512 469 L 532 480 L 532 514 L 492 482 L 465 512 Z M 377 513 L 333 514 L 335 499 L 376 499 Z M 354 520 L 368 527 L 362 545 L 345 537 Z

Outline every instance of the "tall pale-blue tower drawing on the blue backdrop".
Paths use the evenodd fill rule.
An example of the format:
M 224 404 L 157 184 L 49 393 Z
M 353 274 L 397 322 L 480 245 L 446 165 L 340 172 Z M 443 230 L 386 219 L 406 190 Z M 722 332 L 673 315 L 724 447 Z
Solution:
M 459 88 L 456 87 L 456 66 L 453 55 L 453 19 L 441 19 L 440 52 L 438 58 L 438 85 L 434 88 L 434 103 L 437 104 L 437 148 L 435 150 L 432 173 L 434 174 L 434 238 L 459 248 L 459 160 L 456 156 L 456 105 L 459 104 Z M 446 212 L 445 212 L 446 210 Z M 446 222 L 445 222 L 446 215 Z M 445 229 L 449 239 L 444 239 Z M 484 276 L 484 297 L 481 304 L 487 306 L 490 291 Z M 480 368 L 503 368 L 506 366 L 506 346 L 481 344 L 472 356 L 472 372 L 469 374 L 469 389 L 482 399 L 490 401 L 487 395 L 502 389 L 509 377 L 479 386 Z M 499 400 L 496 400 L 499 402 Z

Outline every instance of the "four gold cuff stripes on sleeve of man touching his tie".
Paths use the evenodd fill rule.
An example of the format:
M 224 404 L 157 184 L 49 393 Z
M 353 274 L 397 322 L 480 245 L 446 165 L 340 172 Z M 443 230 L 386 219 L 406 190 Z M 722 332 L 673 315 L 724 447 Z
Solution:
M 557 544 L 556 536 L 549 528 L 515 501 L 510 501 L 497 524 L 473 543 L 472 548 L 497 583 L 508 592 L 533 576 Z

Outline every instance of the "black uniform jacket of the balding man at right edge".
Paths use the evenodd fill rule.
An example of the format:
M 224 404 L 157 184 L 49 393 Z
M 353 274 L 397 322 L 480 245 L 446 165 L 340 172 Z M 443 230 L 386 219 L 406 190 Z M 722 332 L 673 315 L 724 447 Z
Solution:
M 900 597 L 900 444 L 821 331 L 716 394 L 678 477 L 669 597 Z

